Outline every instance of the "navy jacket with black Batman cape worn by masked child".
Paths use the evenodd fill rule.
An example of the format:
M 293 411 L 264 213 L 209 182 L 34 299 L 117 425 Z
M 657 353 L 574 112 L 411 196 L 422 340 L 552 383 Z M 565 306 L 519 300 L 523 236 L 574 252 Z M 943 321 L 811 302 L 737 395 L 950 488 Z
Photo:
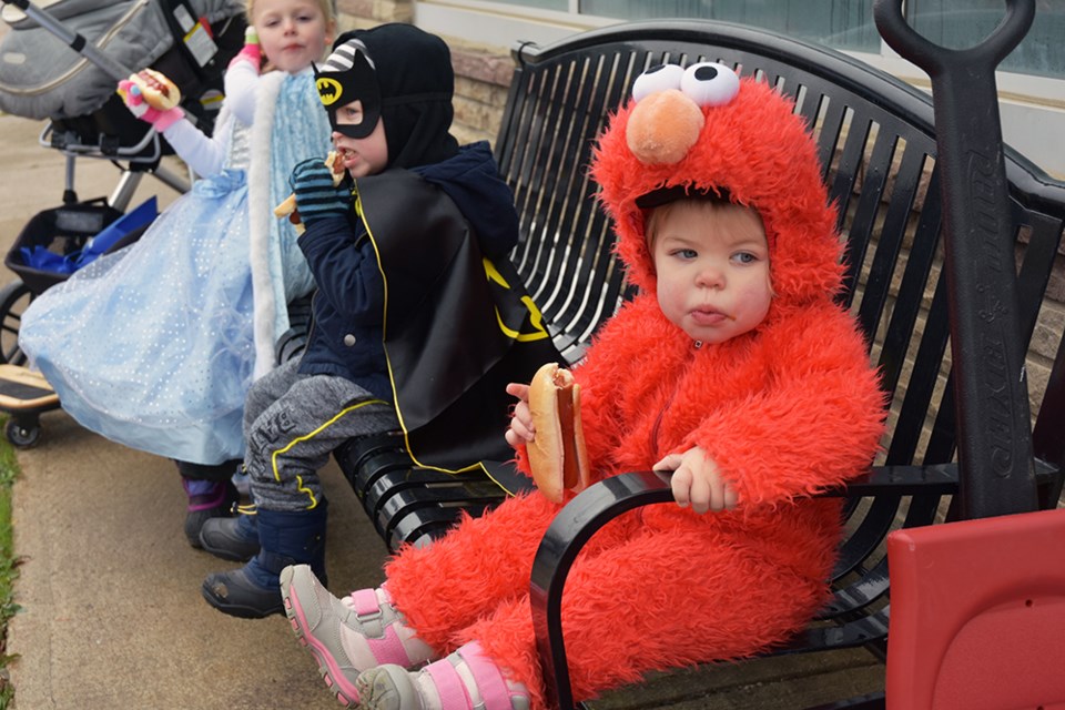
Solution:
M 405 432 L 433 439 L 420 450 L 447 466 L 506 455 L 503 388 L 557 352 L 507 258 L 518 217 L 488 144 L 362 178 L 355 193 L 351 222 L 322 220 L 300 237 L 318 285 L 300 372 L 394 403 Z M 465 447 L 478 428 L 491 443 Z

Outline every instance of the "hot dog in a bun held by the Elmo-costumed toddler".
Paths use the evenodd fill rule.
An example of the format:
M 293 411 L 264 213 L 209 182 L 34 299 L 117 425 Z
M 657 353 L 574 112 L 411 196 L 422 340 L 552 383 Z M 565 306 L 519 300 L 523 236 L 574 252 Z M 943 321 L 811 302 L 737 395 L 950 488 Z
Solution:
M 532 480 L 540 493 L 561 503 L 565 491 L 588 487 L 588 454 L 580 425 L 580 385 L 555 363 L 529 383 L 529 412 L 536 436 L 526 447 Z

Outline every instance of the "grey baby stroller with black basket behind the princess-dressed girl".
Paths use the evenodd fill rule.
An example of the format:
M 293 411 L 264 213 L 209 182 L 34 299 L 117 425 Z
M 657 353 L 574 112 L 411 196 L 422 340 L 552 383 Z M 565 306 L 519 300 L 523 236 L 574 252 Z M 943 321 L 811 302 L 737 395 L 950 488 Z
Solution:
M 135 217 L 134 229 L 123 227 L 102 253 L 115 251 L 135 241 L 154 216 L 141 209 L 125 214 L 144 175 L 179 191 L 189 187 L 187 180 L 160 164 L 173 150 L 126 110 L 115 93 L 118 80 L 148 67 L 162 72 L 181 89 L 186 115 L 210 133 L 221 108 L 224 71 L 244 43 L 245 21 L 243 0 L 0 2 L 0 17 L 10 26 L 0 39 L 0 111 L 45 120 L 40 144 L 67 161 L 62 203 L 31 217 L 4 258 L 18 276 L 0 288 L 0 367 L 6 367 L 26 362 L 18 346 L 22 312 L 69 275 L 30 263 L 28 250 L 69 261 L 106 227 L 123 227 Z M 108 160 L 119 169 L 109 197 L 79 199 L 75 163 L 83 158 Z M 12 415 L 9 440 L 32 446 L 38 414 L 59 406 L 58 399 L 27 409 L 22 399 L 18 406 L 6 403 L 3 394 L 0 410 Z

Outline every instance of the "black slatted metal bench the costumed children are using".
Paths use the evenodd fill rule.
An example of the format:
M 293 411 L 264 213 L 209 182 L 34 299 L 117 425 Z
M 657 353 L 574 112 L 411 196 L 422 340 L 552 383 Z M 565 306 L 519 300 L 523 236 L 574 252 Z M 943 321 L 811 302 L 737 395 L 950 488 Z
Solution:
M 956 516 L 952 501 L 958 490 L 946 280 L 939 277 L 943 205 L 927 95 L 839 52 L 728 23 L 637 22 L 547 48 L 523 44 L 513 55 L 516 68 L 495 146 L 521 217 L 513 260 L 569 362 L 580 358 L 591 334 L 627 295 L 587 165 L 595 136 L 636 75 L 662 61 L 719 61 L 779 87 L 815 128 L 848 242 L 841 302 L 870 336 L 893 415 L 876 466 L 830 493 L 848 497 L 850 516 L 834 599 L 780 650 L 866 646 L 883 653 L 889 611 L 883 540 L 900 526 Z M 1006 172 L 1026 346 L 1061 253 L 1065 184 L 1008 148 Z M 1053 507 L 1065 459 L 1065 341 L 1036 410 L 1039 505 Z M 395 438 L 352 442 L 336 457 L 390 549 L 427 544 L 446 532 L 459 510 L 477 515 L 503 498 L 484 476 L 413 468 Z M 531 591 L 545 677 L 559 707 L 572 706 L 560 626 L 569 565 L 613 515 L 669 500 L 662 476 L 627 474 L 582 494 L 548 532 Z

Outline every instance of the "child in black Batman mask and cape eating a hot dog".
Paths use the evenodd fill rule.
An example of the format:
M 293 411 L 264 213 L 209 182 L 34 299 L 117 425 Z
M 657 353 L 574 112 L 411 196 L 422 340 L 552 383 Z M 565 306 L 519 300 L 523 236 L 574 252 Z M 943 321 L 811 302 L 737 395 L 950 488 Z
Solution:
M 509 458 L 503 387 L 557 357 L 507 260 L 518 237 L 510 190 L 486 142 L 459 146 L 448 132 L 447 45 L 407 24 L 355 30 L 315 80 L 347 176 L 334 185 L 324 156 L 292 174 L 314 322 L 300 361 L 248 392 L 255 515 L 201 535 L 220 557 L 251 558 L 203 584 L 234 616 L 281 612 L 286 565 L 324 576 L 316 471 L 337 446 L 395 430 L 426 466 Z

